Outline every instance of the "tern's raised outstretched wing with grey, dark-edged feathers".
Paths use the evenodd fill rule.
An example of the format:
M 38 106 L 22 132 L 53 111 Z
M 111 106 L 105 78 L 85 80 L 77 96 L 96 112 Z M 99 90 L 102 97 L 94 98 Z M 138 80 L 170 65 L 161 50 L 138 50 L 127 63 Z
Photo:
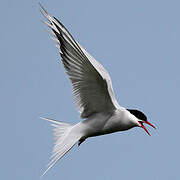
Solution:
M 120 108 L 114 96 L 111 78 L 104 67 L 42 6 L 41 12 L 49 21 L 44 23 L 52 29 L 51 34 L 60 48 L 62 62 L 71 80 L 75 104 L 81 117 L 87 118 L 93 113 Z

